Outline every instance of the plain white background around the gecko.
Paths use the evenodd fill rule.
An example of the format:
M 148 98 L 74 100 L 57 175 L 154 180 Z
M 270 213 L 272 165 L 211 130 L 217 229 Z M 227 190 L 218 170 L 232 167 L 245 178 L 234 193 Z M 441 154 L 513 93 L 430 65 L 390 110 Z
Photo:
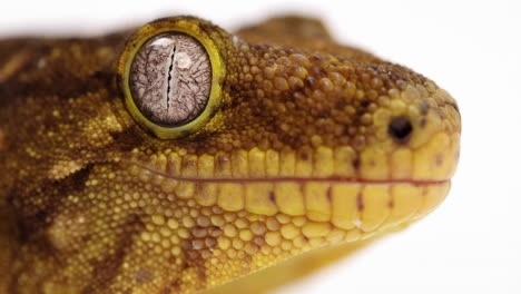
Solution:
M 520 2 L 2 0 L 0 36 L 105 32 L 179 13 L 229 30 L 283 12 L 322 17 L 337 39 L 458 99 L 461 161 L 431 216 L 276 293 L 521 293 Z

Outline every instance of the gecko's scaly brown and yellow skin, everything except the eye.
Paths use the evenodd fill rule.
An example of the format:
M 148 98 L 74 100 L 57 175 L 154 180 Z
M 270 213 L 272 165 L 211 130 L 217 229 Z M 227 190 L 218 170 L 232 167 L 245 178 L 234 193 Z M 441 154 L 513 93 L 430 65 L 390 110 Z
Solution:
M 433 81 L 316 20 L 177 20 L 227 74 L 215 116 L 170 140 L 122 102 L 128 32 L 0 41 L 0 293 L 193 293 L 445 197 L 460 115 Z

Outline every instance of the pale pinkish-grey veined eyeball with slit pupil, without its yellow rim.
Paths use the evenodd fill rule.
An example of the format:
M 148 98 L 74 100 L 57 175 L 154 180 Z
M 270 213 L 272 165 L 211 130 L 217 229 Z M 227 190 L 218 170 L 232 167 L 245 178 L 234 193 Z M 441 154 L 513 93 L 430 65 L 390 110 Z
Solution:
M 136 106 L 150 121 L 179 126 L 196 118 L 208 102 L 212 65 L 205 48 L 184 33 L 147 41 L 130 68 Z

